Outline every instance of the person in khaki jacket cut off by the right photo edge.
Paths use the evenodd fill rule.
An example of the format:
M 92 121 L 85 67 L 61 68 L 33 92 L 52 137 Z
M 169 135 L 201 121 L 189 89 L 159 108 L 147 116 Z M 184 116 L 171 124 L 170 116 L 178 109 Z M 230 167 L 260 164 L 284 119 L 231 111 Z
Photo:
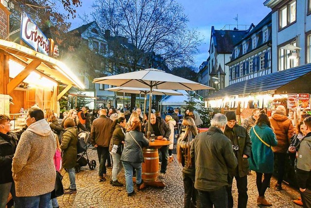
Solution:
M 304 132 L 299 145 L 296 178 L 304 208 L 311 208 L 311 116 L 303 121 Z

